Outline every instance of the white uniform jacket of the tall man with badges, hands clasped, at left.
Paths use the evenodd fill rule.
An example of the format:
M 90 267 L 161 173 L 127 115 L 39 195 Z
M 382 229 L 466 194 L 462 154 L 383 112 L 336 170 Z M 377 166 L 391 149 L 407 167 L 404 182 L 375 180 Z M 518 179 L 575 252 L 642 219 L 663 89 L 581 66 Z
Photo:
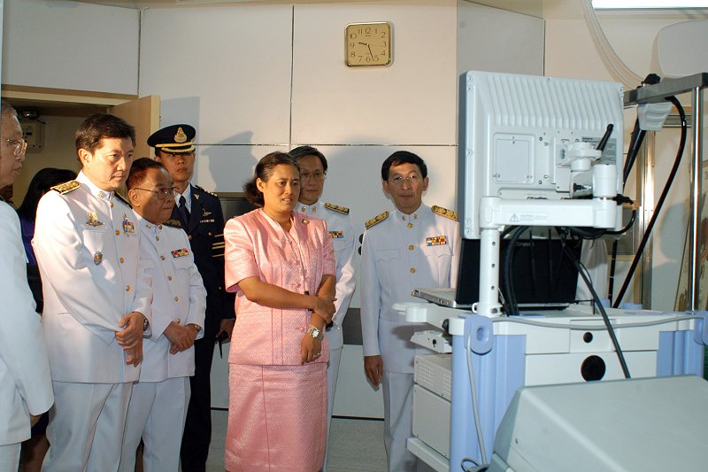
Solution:
M 37 207 L 32 241 L 42 275 L 42 327 L 51 378 L 69 383 L 135 382 L 137 368 L 115 338 L 120 318 L 151 316 L 150 279 L 131 208 L 80 173 L 80 185 L 50 191 Z M 142 258 L 143 261 L 145 260 Z

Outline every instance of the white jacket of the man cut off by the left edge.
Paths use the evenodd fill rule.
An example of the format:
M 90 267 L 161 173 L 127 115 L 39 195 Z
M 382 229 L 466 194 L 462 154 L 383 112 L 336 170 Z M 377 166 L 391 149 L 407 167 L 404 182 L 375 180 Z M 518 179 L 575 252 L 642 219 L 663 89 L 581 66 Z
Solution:
M 54 402 L 50 364 L 27 285 L 27 259 L 17 213 L 0 201 L 0 445 L 29 437 L 29 414 L 42 414 Z M 17 462 L 14 464 L 17 468 Z

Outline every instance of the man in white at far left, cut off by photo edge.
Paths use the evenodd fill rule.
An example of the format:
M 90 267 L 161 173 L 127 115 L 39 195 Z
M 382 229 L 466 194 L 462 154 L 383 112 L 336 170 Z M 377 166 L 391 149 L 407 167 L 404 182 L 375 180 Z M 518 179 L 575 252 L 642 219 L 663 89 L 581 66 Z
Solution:
M 0 188 L 11 185 L 22 168 L 27 143 L 17 113 L 2 102 Z M 27 285 L 27 257 L 19 219 L 0 197 L 0 470 L 17 470 L 20 443 L 31 425 L 50 409 L 50 362 L 42 339 L 35 299 Z

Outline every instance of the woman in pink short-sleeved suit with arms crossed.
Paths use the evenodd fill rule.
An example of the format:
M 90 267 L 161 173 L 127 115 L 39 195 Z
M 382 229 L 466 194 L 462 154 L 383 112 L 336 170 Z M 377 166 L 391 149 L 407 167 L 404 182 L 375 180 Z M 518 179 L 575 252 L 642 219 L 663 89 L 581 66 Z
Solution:
M 327 340 L 335 256 L 325 221 L 293 211 L 289 154 L 261 159 L 243 187 L 257 210 L 227 222 L 226 285 L 236 293 L 225 466 L 231 472 L 322 468 Z

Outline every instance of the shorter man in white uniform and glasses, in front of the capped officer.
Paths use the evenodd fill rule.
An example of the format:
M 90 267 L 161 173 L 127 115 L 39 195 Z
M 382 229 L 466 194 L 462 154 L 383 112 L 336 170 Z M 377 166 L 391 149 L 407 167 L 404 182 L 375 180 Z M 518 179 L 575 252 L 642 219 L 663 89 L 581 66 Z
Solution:
M 152 336 L 143 344 L 140 382 L 133 384 L 119 469 L 135 470 L 135 450 L 142 438 L 145 472 L 177 470 L 189 376 L 194 375 L 194 341 L 204 336 L 206 290 L 187 233 L 169 226 L 174 190 L 165 167 L 137 159 L 126 186 L 143 253 L 152 262 Z

